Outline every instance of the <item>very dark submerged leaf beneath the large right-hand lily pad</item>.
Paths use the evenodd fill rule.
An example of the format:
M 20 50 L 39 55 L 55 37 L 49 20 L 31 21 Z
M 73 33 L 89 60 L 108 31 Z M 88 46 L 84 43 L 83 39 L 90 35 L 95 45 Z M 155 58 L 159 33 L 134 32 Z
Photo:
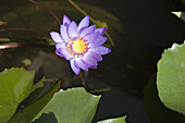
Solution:
M 185 123 L 185 116 L 166 108 L 159 99 L 156 75 L 144 89 L 144 106 L 151 123 Z

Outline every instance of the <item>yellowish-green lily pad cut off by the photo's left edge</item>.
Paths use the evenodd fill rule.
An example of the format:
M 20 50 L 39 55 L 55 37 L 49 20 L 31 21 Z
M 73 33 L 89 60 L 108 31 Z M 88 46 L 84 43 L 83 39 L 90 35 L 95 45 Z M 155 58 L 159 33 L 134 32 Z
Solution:
M 32 91 L 34 72 L 13 67 L 0 73 L 0 121 L 8 122 Z

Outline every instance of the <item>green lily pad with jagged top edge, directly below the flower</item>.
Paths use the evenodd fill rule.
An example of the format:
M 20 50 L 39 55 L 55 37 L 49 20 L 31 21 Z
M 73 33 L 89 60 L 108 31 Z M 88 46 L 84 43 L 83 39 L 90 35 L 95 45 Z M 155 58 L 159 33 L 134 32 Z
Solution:
M 60 90 L 54 94 L 33 123 L 38 123 L 38 120 L 46 113 L 49 113 L 47 116 L 52 116 L 58 123 L 90 123 L 100 97 L 88 94 L 84 88 Z M 40 119 L 38 119 L 39 116 Z

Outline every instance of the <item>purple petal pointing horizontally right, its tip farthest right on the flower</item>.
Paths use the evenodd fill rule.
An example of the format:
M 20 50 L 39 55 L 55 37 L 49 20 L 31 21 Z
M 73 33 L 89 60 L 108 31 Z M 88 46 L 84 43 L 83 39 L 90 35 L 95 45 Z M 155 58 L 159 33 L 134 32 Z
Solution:
M 111 49 L 103 47 L 103 46 L 99 46 L 97 48 L 92 48 L 89 51 L 92 51 L 95 53 L 99 53 L 99 54 L 107 54 L 109 52 L 111 52 Z

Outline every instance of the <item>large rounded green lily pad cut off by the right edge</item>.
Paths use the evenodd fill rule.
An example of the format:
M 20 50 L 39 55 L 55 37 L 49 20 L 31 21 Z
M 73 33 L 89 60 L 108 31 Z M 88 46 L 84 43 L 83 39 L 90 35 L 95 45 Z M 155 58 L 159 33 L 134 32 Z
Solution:
M 157 87 L 165 107 L 185 114 L 185 44 L 164 50 L 158 62 Z

